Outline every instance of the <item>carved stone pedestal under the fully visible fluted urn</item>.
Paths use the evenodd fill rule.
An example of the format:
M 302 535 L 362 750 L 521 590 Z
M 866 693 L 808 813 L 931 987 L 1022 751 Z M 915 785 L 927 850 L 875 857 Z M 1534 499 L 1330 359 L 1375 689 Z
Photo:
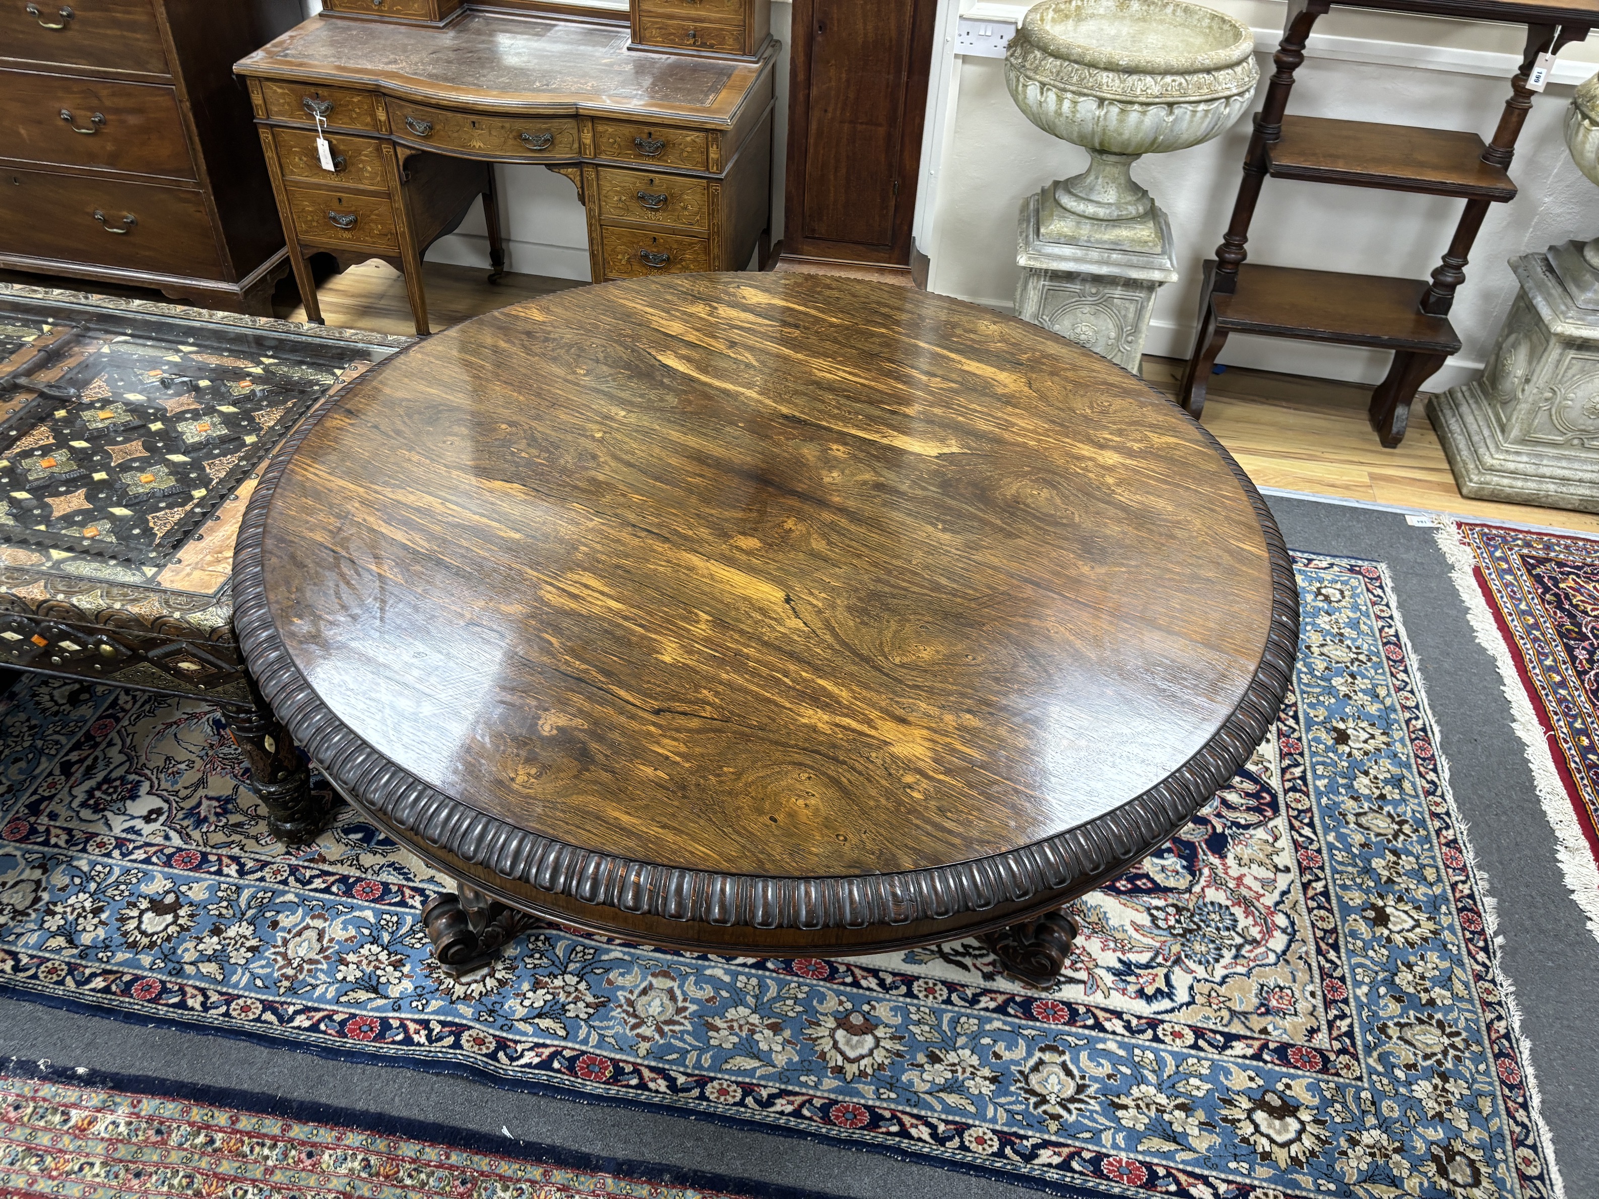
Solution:
M 1049 187 L 1022 201 L 1015 315 L 1137 374 L 1154 291 L 1177 278 L 1166 213 L 1153 208 L 1134 221 L 1076 219 L 1092 229 L 1073 241 L 1046 240 L 1041 221 L 1051 233 L 1067 225 Z

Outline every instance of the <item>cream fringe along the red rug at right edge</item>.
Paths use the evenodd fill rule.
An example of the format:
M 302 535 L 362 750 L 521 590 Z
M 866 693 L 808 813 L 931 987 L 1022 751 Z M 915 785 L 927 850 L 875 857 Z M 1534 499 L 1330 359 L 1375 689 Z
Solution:
M 1532 767 L 1532 779 L 1538 791 L 1538 803 L 1543 815 L 1554 830 L 1556 858 L 1561 863 L 1561 878 L 1572 894 L 1583 916 L 1588 918 L 1588 930 L 1599 938 L 1599 863 L 1594 862 L 1588 849 L 1588 839 L 1572 811 L 1572 796 L 1565 788 L 1554 764 L 1557 750 L 1549 745 L 1549 734 L 1543 729 L 1543 721 L 1532 707 L 1532 695 L 1516 667 L 1513 649 L 1506 644 L 1498 623 L 1493 620 L 1493 609 L 1482 598 L 1477 585 L 1476 558 L 1466 545 L 1458 521 L 1445 521 L 1438 531 L 1438 548 L 1449 560 L 1450 579 L 1466 606 L 1466 620 L 1476 633 L 1477 644 L 1489 651 L 1500 671 L 1500 684 L 1505 699 L 1511 707 L 1511 724 L 1521 739 L 1527 755 L 1527 766 Z

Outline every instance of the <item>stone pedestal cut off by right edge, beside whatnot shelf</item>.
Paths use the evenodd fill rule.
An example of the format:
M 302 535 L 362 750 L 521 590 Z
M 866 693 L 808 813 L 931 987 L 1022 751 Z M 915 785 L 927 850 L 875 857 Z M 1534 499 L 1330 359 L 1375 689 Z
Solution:
M 1599 512 L 1599 310 L 1577 304 L 1548 254 L 1509 265 L 1521 293 L 1487 369 L 1433 396 L 1428 419 L 1461 496 Z

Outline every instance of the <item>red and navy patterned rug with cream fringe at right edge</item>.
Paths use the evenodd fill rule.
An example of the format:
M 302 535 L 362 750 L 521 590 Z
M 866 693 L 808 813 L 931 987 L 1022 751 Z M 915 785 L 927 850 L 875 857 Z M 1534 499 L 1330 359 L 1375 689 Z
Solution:
M 1599 937 L 1599 539 L 1450 521 L 1439 544 L 1498 660 L 1565 886 Z

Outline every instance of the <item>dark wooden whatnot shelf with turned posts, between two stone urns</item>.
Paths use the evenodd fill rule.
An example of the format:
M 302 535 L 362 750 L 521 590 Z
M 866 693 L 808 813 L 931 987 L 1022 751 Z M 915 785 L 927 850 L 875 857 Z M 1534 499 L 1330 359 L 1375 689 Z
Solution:
M 1178 403 L 1193 416 L 1204 409 L 1206 384 L 1217 355 L 1233 333 L 1294 337 L 1337 345 L 1393 350 L 1388 376 L 1372 393 L 1370 420 L 1388 448 L 1404 438 L 1410 401 L 1422 382 L 1460 350 L 1449 325 L 1455 289 L 1465 281 L 1471 243 L 1492 203 L 1516 198 L 1506 168 L 1514 155 L 1533 91 L 1533 61 L 1581 42 L 1599 26 L 1599 3 L 1548 0 L 1362 0 L 1364 8 L 1390 8 L 1527 26 L 1521 70 L 1511 80 L 1493 139 L 1476 133 L 1404 125 L 1286 115 L 1294 72 L 1316 18 L 1340 0 L 1290 0 L 1282 42 L 1273 58 L 1276 74 L 1244 157 L 1233 219 L 1215 259 L 1204 265 L 1199 336 L 1183 371 Z M 1348 275 L 1297 267 L 1244 265 L 1249 224 L 1266 176 L 1306 182 L 1377 187 L 1390 192 L 1445 195 L 1465 200 L 1455 235 L 1430 281 Z

